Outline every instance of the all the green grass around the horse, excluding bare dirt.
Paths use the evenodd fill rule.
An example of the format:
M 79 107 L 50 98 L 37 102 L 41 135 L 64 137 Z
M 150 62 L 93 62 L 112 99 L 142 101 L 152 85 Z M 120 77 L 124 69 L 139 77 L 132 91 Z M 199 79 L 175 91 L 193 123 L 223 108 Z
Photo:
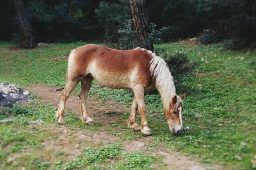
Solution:
M 64 86 L 67 58 L 71 49 L 84 43 L 49 44 L 33 50 L 10 49 L 12 44 L 0 43 L 0 82 L 11 82 L 26 87 L 30 84 Z M 158 51 L 182 51 L 190 59 L 198 62 L 197 73 L 185 77 L 177 93 L 186 93 L 184 100 L 185 127 L 191 130 L 176 136 L 170 134 L 163 117 L 163 105 L 159 95 L 147 93 L 147 117 L 154 138 L 153 146 L 164 146 L 170 150 L 182 151 L 194 155 L 201 162 L 219 164 L 225 169 L 253 169 L 252 161 L 256 160 L 256 52 L 242 50 L 232 52 L 223 49 L 222 44 L 183 45 L 165 43 L 155 45 Z M 76 89 L 76 93 L 79 88 Z M 101 88 L 93 82 L 90 97 L 100 100 L 114 100 L 119 105 L 131 105 L 132 93 L 124 89 Z M 15 107 L 13 114 L 0 114 L 0 118 L 15 116 L 13 123 L 0 125 L 0 168 L 28 167 L 29 169 L 100 169 L 100 165 L 115 169 L 148 169 L 154 164 L 161 164 L 159 158 L 145 153 L 120 151 L 120 143 L 108 146 L 88 144 L 83 153 L 72 160 L 63 160 L 66 153 L 54 153 L 51 157 L 39 156 L 35 152 L 22 155 L 12 164 L 10 155 L 19 155 L 24 150 L 44 151 L 42 143 L 54 139 L 50 132 L 28 127 L 31 120 L 44 120 L 55 123 L 53 118 L 55 106 L 45 105 L 36 97 L 26 107 Z M 128 118 L 125 112 L 122 121 Z M 75 116 L 68 115 L 68 126 L 76 130 L 106 130 L 124 140 L 143 138 L 140 133 L 133 133 L 124 125 L 113 125 L 113 128 L 84 127 Z M 115 127 L 115 128 L 114 128 Z M 115 134 L 117 128 L 119 130 Z M 47 136 L 45 138 L 45 136 Z M 121 144 L 122 145 L 122 144 Z M 51 155 L 51 153 L 49 153 Z M 115 166 L 111 161 L 115 160 Z M 32 163 L 31 163 L 32 162 Z M 160 163 L 159 163 L 160 162 Z

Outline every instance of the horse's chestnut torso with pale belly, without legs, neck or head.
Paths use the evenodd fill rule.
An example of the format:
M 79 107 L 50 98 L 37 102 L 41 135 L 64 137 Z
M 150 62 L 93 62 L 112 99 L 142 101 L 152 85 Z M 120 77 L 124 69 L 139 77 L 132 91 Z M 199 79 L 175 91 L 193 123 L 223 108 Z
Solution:
M 102 86 L 132 88 L 134 84 L 147 87 L 150 83 L 149 62 L 152 56 L 147 51 L 115 50 L 89 44 L 72 52 L 73 63 L 76 63 L 72 70 L 82 77 L 91 74 Z

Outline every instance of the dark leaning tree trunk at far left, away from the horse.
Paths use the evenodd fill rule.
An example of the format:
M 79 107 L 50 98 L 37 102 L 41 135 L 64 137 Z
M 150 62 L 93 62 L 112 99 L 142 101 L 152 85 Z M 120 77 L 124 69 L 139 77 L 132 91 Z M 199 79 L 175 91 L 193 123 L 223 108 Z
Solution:
M 26 16 L 23 0 L 13 0 L 13 3 L 19 20 L 19 29 L 23 36 L 21 46 L 26 49 L 32 49 L 33 47 L 36 47 L 36 43 L 33 36 L 33 30 L 31 29 L 28 17 Z

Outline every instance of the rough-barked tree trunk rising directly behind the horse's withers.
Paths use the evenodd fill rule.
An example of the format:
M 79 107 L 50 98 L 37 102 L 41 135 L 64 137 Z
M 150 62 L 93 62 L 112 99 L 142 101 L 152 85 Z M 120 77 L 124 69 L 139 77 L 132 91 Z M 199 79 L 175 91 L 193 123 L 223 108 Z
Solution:
M 130 0 L 130 7 L 134 29 L 138 32 L 138 40 L 141 43 L 141 47 L 153 51 L 153 43 L 150 40 L 150 25 L 144 10 L 145 3 L 145 0 Z

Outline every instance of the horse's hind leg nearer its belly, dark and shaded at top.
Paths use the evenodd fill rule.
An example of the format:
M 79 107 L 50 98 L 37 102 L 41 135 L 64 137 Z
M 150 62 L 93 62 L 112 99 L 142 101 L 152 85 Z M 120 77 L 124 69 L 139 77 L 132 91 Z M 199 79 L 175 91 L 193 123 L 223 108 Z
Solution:
M 93 77 L 90 75 L 87 75 L 81 80 L 81 91 L 79 95 L 80 104 L 81 104 L 81 120 L 83 123 L 86 123 L 88 125 L 93 124 L 92 118 L 88 116 L 88 110 L 86 107 L 86 100 L 88 96 L 88 91 L 91 88 Z

